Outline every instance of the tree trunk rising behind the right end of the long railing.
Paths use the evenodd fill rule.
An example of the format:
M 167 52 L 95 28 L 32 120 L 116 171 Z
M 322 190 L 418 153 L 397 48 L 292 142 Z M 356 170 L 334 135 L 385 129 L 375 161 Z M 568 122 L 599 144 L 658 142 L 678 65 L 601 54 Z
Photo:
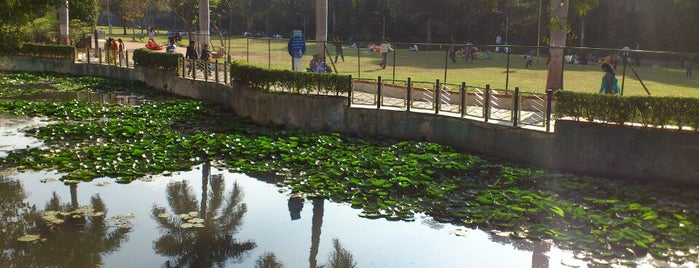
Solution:
M 559 90 L 563 88 L 563 51 L 566 46 L 566 25 L 568 22 L 569 0 L 551 0 L 553 20 L 551 25 L 551 44 L 549 48 L 548 77 L 546 89 Z

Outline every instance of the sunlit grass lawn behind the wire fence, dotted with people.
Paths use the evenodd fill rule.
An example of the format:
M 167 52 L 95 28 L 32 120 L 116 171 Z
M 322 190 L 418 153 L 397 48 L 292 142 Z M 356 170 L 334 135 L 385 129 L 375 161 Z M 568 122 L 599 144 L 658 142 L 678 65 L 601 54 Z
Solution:
M 100 27 L 107 32 L 106 27 Z M 140 33 L 140 29 L 136 33 Z M 107 37 L 132 40 L 131 29 L 123 35 L 123 28 L 113 27 L 113 35 Z M 212 36 L 211 42 L 216 49 L 221 46 L 218 36 Z M 186 39 L 186 37 L 184 38 Z M 142 40 L 145 42 L 147 37 Z M 166 43 L 165 31 L 156 35 L 158 43 Z M 250 64 L 274 69 L 291 69 L 291 58 L 287 52 L 286 39 L 256 39 L 234 36 L 230 40 L 230 52 L 234 59 L 247 61 Z M 229 46 L 228 37 L 223 37 L 224 47 Z M 186 41 L 180 43 L 186 45 Z M 328 44 L 328 53 L 334 59 L 335 49 Z M 407 46 L 404 46 L 407 47 Z M 456 63 L 448 60 L 442 50 L 412 52 L 407 48 L 398 48 L 390 53 L 386 69 L 379 67 L 381 54 L 369 52 L 366 48 L 352 49 L 349 44 L 344 48 L 345 61 L 338 59 L 335 64 L 337 72 L 349 74 L 354 78 L 376 79 L 381 76 L 384 80 L 406 80 L 435 82 L 460 85 L 466 82 L 468 86 L 484 87 L 489 84 L 494 89 L 513 90 L 519 87 L 525 92 L 544 92 L 546 85 L 546 58 L 536 58 L 534 65 L 525 68 L 525 59 L 515 50 L 508 57 L 506 54 L 493 53 L 492 59 L 481 59 L 466 63 L 457 58 Z M 312 59 L 316 44 L 306 43 L 304 68 Z M 395 61 L 394 61 L 395 60 Z M 395 64 L 394 64 L 395 62 Z M 445 64 L 446 63 L 446 64 Z M 566 64 L 563 75 L 565 90 L 596 93 L 602 82 L 602 71 L 599 63 L 590 65 Z M 626 69 L 626 75 L 620 64 L 617 70 L 619 86 L 624 86 L 624 95 L 647 95 L 641 82 L 636 78 L 631 68 Z M 686 78 L 685 71 L 679 62 L 645 62 L 640 67 L 634 67 L 648 91 L 653 96 L 682 96 L 699 98 L 699 79 Z M 446 70 L 446 71 L 445 71 Z M 445 79 L 446 77 L 446 79 Z

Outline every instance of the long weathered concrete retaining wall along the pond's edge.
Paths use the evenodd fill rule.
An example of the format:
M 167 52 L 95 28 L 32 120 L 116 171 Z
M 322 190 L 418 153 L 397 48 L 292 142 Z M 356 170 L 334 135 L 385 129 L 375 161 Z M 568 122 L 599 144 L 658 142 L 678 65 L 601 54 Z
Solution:
M 424 140 L 528 166 L 620 179 L 699 185 L 699 133 L 557 121 L 554 133 L 457 117 L 350 108 L 345 97 L 262 92 L 145 68 L 0 57 L 0 71 L 58 72 L 137 80 L 206 100 L 258 124 Z

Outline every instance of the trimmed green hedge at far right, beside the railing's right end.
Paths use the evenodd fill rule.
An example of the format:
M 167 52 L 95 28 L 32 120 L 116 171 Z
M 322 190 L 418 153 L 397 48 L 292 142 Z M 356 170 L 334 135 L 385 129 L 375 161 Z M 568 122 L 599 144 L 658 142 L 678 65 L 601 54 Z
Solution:
M 556 92 L 556 118 L 699 128 L 699 99 Z

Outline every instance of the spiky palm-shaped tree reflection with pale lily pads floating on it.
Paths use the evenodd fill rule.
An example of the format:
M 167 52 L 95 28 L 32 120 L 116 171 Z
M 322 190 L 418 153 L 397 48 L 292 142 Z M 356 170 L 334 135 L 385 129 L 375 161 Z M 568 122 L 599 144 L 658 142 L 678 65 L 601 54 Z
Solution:
M 176 215 L 166 214 L 164 207 L 153 207 L 152 216 L 163 231 L 154 248 L 158 254 L 172 258 L 166 266 L 222 267 L 229 259 L 240 261 L 244 253 L 255 248 L 252 241 L 238 242 L 234 238 L 247 211 L 241 202 L 242 190 L 236 183 L 224 195 L 223 177 L 211 176 L 210 172 L 211 167 L 204 165 L 201 203 L 189 183 L 179 181 L 167 186 L 168 203 Z M 197 227 L 198 223 L 203 226 Z

